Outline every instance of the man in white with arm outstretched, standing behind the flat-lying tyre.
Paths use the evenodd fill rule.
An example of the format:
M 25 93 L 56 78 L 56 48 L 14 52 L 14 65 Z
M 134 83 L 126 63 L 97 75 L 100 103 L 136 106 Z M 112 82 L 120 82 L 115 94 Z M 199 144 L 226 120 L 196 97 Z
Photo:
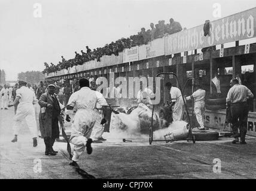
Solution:
M 200 85 L 197 85 L 196 88 L 197 90 L 191 96 L 187 96 L 186 100 L 194 100 L 194 113 L 200 125 L 199 130 L 206 130 L 203 123 L 203 115 L 205 115 L 205 90 L 202 90 Z

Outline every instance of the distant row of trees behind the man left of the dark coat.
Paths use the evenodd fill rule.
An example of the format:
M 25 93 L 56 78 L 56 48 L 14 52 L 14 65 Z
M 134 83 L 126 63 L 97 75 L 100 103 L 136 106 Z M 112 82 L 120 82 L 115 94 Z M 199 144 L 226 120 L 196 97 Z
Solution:
M 44 81 L 45 75 L 39 71 L 27 71 L 18 73 L 18 79 L 24 80 L 29 84 L 39 84 L 40 81 Z

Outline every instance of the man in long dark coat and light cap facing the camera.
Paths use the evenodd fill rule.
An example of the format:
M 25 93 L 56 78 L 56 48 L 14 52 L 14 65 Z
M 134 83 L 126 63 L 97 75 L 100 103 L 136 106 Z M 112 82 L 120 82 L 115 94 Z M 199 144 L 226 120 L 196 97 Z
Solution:
M 39 98 L 38 104 L 41 106 L 39 113 L 39 126 L 41 136 L 44 138 L 45 155 L 56 155 L 57 151 L 53 150 L 53 144 L 56 138 L 59 138 L 59 121 L 60 104 L 57 100 L 57 95 L 54 94 L 55 85 L 49 84 L 47 93 L 44 93 Z

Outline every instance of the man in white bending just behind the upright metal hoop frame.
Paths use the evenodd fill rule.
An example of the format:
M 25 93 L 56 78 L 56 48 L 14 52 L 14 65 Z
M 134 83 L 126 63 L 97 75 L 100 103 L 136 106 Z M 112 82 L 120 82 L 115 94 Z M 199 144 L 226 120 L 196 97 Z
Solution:
M 172 118 L 173 121 L 181 121 L 184 113 L 184 101 L 181 96 L 181 90 L 173 87 L 171 82 L 166 83 L 167 90 L 170 90 L 170 97 L 172 99 Z

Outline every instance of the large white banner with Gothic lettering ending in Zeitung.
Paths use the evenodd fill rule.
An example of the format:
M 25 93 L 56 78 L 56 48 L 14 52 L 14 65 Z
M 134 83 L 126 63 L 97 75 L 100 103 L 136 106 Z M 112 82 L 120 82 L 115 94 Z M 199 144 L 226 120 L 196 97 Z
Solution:
M 209 35 L 203 24 L 165 37 L 165 55 L 240 41 L 256 36 L 256 8 L 210 22 Z

